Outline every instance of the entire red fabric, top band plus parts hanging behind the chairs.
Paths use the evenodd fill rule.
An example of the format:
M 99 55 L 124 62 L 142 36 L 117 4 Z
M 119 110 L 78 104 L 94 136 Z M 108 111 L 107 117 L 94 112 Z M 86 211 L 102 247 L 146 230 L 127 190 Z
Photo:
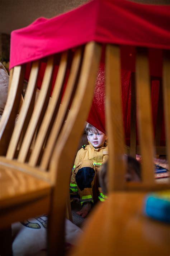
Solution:
M 11 33 L 10 68 L 60 53 L 89 41 L 121 46 L 121 84 L 126 141 L 130 138 L 131 75 L 135 72 L 135 47 L 147 47 L 152 81 L 154 129 L 162 76 L 162 50 L 170 49 L 170 6 L 146 5 L 127 0 L 92 0 L 70 12 Z M 102 57 L 88 122 L 105 132 L 105 60 Z M 41 87 L 45 62 L 38 75 Z M 56 65 L 57 72 L 57 65 Z M 26 77 L 29 76 L 27 69 Z M 156 78 L 154 78 L 156 77 Z M 157 78 L 159 78 L 157 80 Z M 88 96 L 87 96 L 88 97 Z M 164 140 L 164 120 L 162 120 Z

